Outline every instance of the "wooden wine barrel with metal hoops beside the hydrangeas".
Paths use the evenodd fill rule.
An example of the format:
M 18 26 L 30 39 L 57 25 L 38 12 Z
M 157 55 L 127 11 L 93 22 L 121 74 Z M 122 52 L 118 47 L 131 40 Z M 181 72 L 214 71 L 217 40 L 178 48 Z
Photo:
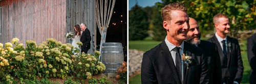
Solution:
M 101 62 L 106 66 L 104 73 L 116 73 L 117 67 L 121 67 L 123 47 L 121 43 L 103 43 Z

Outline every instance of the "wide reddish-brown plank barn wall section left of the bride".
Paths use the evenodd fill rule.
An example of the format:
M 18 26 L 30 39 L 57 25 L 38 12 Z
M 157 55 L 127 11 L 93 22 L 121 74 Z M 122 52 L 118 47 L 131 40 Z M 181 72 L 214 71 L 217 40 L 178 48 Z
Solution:
M 5 0 L 1 6 L 0 43 L 17 37 L 23 44 L 33 39 L 39 44 L 47 38 L 66 43 L 66 0 Z

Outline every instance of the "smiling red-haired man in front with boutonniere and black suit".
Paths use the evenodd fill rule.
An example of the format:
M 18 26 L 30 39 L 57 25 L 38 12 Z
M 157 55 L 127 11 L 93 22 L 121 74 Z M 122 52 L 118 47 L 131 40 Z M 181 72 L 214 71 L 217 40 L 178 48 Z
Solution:
M 141 82 L 208 83 L 203 50 L 184 41 L 189 29 L 187 8 L 180 3 L 166 5 L 162 8 L 162 19 L 167 36 L 161 44 L 144 53 Z

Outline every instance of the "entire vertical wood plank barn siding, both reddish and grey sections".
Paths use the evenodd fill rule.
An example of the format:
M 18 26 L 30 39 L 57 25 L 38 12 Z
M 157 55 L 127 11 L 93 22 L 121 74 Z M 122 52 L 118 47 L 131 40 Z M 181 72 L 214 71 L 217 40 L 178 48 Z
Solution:
M 83 22 L 92 36 L 89 53 L 95 51 L 94 0 L 4 0 L 0 6 L 0 43 L 11 42 L 14 37 L 23 44 L 29 39 L 40 44 L 49 37 L 67 43 L 64 35 L 73 32 L 75 24 Z

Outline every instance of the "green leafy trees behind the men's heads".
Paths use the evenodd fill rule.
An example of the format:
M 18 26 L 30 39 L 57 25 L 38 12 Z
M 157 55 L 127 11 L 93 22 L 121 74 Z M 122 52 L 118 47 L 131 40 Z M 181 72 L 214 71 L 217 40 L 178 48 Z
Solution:
M 213 17 L 218 13 L 230 20 L 229 36 L 238 38 L 238 31 L 253 30 L 256 26 L 256 1 L 250 0 L 196 0 L 167 1 L 155 3 L 155 6 L 142 8 L 137 4 L 129 11 L 129 40 L 143 40 L 151 36 L 153 40 L 163 40 L 166 30 L 162 26 L 161 8 L 169 3 L 182 3 L 188 9 L 188 16 L 198 21 L 201 35 L 214 33 Z

